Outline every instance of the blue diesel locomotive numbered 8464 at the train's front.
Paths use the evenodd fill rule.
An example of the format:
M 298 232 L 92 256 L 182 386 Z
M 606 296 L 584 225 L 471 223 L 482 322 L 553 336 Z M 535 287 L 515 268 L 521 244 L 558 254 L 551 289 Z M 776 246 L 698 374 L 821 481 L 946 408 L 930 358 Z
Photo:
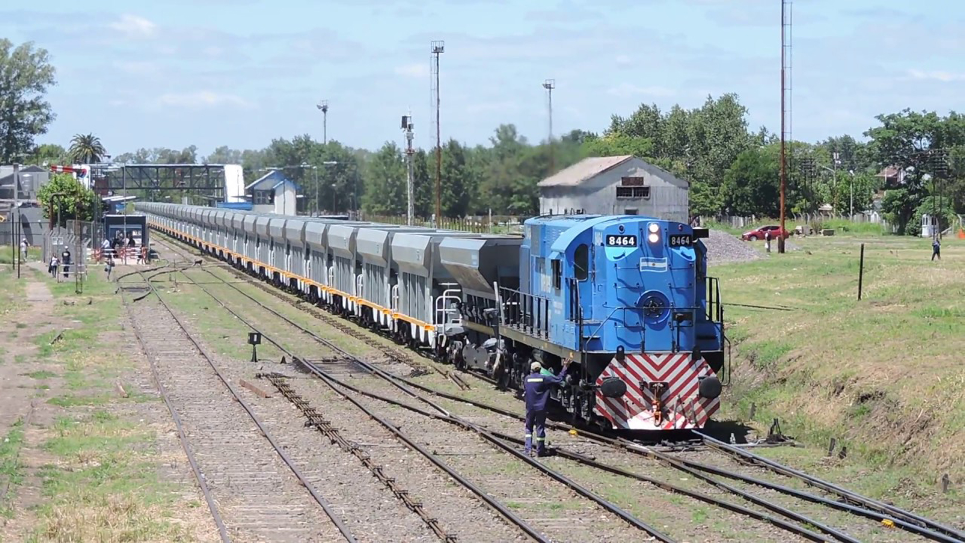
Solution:
M 639 215 L 541 216 L 524 228 L 518 286 L 497 281 L 488 296 L 466 293 L 458 304 L 455 364 L 521 388 L 531 360 L 560 368 L 570 358 L 578 363 L 556 399 L 574 419 L 703 427 L 720 405 L 725 362 L 719 285 L 700 241 L 707 230 Z

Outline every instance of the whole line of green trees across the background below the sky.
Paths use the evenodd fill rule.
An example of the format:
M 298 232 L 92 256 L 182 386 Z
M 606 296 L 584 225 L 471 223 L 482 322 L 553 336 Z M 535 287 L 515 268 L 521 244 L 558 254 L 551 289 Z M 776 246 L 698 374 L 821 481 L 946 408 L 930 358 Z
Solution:
M 16 74 L 14 77 L 13 74 Z M 0 160 L 33 163 L 98 161 L 106 150 L 93 134 L 77 134 L 65 149 L 37 146 L 34 138 L 54 119 L 46 89 L 55 84 L 46 51 L 33 43 L 0 41 Z M 735 94 L 707 97 L 691 109 L 662 111 L 641 104 L 627 116 L 613 115 L 600 133 L 574 129 L 550 141 L 530 142 L 514 125 L 500 125 L 487 144 L 455 138 L 441 149 L 442 213 L 532 215 L 538 213 L 540 180 L 584 157 L 633 155 L 690 183 L 692 215 L 779 214 L 780 152 L 768 129 L 750 129 L 747 108 Z M 899 231 L 911 232 L 924 213 L 948 224 L 965 211 L 965 121 L 904 109 L 875 117 L 863 132 L 809 143 L 786 144 L 786 211 L 811 213 L 830 205 L 835 213 L 869 211 L 878 201 Z M 415 151 L 415 213 L 433 213 L 435 149 Z M 207 157 L 197 147 L 138 149 L 111 157 L 124 163 L 238 163 L 250 183 L 280 167 L 301 187 L 307 211 L 405 214 L 405 152 L 394 141 L 379 149 L 353 149 L 308 134 L 276 138 L 263 149 L 222 146 Z M 885 168 L 887 173 L 880 175 Z

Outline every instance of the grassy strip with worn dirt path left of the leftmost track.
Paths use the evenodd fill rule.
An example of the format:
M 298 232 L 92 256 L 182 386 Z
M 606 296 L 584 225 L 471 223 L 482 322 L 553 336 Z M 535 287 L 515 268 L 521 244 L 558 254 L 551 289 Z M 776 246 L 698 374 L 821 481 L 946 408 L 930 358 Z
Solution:
M 25 268 L 0 323 L 0 542 L 216 539 L 102 275 L 76 295 Z

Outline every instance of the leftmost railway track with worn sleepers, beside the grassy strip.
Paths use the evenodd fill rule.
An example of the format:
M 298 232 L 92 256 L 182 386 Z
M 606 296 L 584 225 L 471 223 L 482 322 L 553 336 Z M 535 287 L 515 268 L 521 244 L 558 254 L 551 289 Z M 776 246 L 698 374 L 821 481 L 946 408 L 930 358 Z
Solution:
M 222 541 L 355 543 L 339 515 L 184 328 L 146 274 L 137 275 L 144 282 L 140 289 L 119 281 L 124 306 Z M 135 308 L 124 297 L 132 287 L 155 296 Z

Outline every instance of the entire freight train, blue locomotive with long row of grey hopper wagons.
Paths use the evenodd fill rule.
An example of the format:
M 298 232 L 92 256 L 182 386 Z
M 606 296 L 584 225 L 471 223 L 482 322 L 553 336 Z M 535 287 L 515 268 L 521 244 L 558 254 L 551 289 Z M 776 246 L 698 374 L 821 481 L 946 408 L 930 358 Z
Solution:
M 725 334 L 706 229 L 557 215 L 523 236 L 138 203 L 152 228 L 333 313 L 607 429 L 702 428 L 720 406 Z

